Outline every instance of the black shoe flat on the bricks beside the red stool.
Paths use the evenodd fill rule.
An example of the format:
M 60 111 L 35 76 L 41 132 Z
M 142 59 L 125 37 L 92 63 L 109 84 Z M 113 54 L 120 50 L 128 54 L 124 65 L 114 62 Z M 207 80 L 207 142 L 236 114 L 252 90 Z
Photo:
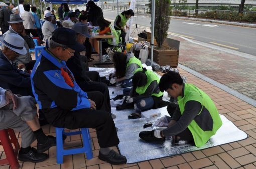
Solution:
M 18 159 L 23 162 L 28 161 L 37 163 L 48 159 L 48 155 L 45 153 L 38 153 L 35 148 L 31 148 L 28 153 L 23 154 L 19 152 Z

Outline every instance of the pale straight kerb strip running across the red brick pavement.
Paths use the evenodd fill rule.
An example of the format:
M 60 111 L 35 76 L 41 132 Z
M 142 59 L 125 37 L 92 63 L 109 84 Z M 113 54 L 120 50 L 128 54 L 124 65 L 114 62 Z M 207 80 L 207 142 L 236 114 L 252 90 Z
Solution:
M 229 87 L 227 87 L 227 86 L 225 86 L 225 85 L 223 85 L 223 84 L 221 84 L 221 83 L 219 83 L 219 82 L 217 82 L 217 81 L 215 81 L 215 80 L 213 80 L 209 77 L 206 77 L 205 75 L 200 74 L 200 73 L 198 73 L 198 72 L 196 72 L 196 71 L 194 71 L 194 70 L 192 70 L 192 69 L 190 69 L 190 68 L 188 68 L 184 65 L 178 64 L 178 67 L 180 67 L 183 70 L 189 72 L 190 74 L 193 74 L 194 76 L 196 76 L 196 77 L 198 77 L 198 78 L 200 78 L 200 79 L 202 79 L 202 80 L 204 80 L 204 81 L 206 81 L 206 82 L 208 82 L 208 83 L 226 91 L 227 93 L 229 93 L 229 94 L 247 102 L 248 104 L 256 107 L 256 100 L 254 100 L 254 99 L 252 99 L 252 98 L 250 98 L 246 95 L 243 95 L 243 94 L 239 93 L 238 91 L 236 91 L 234 89 L 231 89 L 231 88 L 229 88 Z

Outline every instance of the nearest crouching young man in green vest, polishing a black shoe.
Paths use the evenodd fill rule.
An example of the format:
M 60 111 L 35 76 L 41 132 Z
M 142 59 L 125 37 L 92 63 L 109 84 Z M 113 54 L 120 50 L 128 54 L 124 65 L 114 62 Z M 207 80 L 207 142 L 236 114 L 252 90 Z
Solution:
M 178 106 L 168 127 L 164 130 L 140 132 L 145 141 L 165 141 L 172 136 L 173 143 L 189 141 L 195 146 L 203 146 L 217 130 L 222 121 L 211 98 L 193 84 L 183 83 L 179 73 L 170 71 L 160 79 L 159 88 L 178 100 Z

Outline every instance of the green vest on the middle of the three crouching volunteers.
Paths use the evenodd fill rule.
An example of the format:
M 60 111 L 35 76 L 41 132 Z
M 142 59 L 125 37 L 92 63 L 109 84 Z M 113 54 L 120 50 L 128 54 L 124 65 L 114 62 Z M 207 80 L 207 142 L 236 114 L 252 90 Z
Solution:
M 142 69 L 137 68 L 135 70 L 135 73 L 138 71 L 142 71 Z M 135 89 L 135 92 L 138 93 L 139 95 L 142 95 L 145 93 L 145 91 L 147 90 L 147 88 L 151 84 L 151 82 L 156 80 L 157 83 L 159 84 L 159 78 L 158 78 L 157 74 L 155 74 L 153 71 L 147 70 L 147 71 L 145 71 L 145 74 L 147 76 L 147 84 L 142 87 L 136 87 L 136 89 Z M 163 96 L 163 93 L 161 91 L 159 91 L 159 93 L 152 93 L 151 96 L 161 97 L 161 96 Z

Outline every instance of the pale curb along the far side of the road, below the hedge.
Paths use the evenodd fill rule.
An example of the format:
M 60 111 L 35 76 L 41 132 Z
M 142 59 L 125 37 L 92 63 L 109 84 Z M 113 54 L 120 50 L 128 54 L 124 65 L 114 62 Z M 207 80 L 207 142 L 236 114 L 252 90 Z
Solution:
M 237 22 L 229 22 L 229 21 L 208 20 L 208 19 L 187 18 L 187 17 L 175 17 L 175 16 L 171 16 L 171 18 L 180 19 L 180 20 L 202 21 L 202 22 L 210 22 L 210 23 L 219 23 L 219 24 L 227 24 L 227 25 L 233 25 L 233 26 L 256 28 L 256 24 L 249 24 L 249 23 L 237 23 Z

